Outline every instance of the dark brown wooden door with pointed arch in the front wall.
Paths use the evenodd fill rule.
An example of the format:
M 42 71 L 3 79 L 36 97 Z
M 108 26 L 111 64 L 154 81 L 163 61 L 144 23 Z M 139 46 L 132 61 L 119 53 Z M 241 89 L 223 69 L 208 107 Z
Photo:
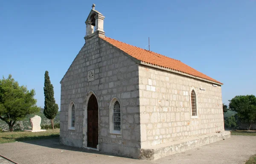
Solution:
M 94 95 L 90 96 L 87 107 L 87 147 L 97 148 L 98 139 L 98 102 Z

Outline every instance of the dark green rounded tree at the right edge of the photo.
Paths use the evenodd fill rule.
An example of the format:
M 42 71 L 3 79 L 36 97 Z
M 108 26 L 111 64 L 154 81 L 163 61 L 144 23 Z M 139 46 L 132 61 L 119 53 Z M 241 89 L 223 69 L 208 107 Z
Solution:
M 256 97 L 254 95 L 235 96 L 229 100 L 230 110 L 236 111 L 241 121 L 248 123 L 248 130 L 256 121 Z

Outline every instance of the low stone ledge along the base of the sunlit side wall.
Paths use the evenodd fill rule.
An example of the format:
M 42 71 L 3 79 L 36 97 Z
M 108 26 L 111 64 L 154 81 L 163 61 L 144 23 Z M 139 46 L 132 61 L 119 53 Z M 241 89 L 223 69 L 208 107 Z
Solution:
M 221 133 L 210 133 L 207 135 L 191 137 L 179 141 L 172 141 L 166 144 L 144 147 L 141 148 L 140 159 L 155 160 L 227 138 L 230 138 L 230 132 L 221 131 Z

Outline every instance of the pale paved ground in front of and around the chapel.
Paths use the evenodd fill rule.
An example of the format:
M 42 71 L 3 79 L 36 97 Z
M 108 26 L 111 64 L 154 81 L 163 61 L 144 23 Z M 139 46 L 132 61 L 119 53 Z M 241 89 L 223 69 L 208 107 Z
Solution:
M 155 161 L 109 156 L 98 151 L 67 147 L 58 139 L 0 144 L 0 155 L 18 164 L 242 164 L 256 154 L 256 136 L 231 136 L 202 147 Z

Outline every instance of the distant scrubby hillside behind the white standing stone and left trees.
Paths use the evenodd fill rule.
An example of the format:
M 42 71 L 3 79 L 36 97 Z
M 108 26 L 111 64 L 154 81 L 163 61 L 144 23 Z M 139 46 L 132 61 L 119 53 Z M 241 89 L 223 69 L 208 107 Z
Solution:
M 41 110 L 38 113 L 32 114 L 32 115 L 28 115 L 25 119 L 23 119 L 23 121 L 19 121 L 14 125 L 14 130 L 31 130 L 31 124 L 29 122 L 29 119 L 31 117 L 34 117 L 35 115 L 38 115 L 41 117 L 41 125 L 44 124 L 51 124 L 51 120 L 47 119 L 44 116 L 44 108 L 41 108 Z M 58 111 L 55 119 L 54 119 L 54 124 L 57 124 L 60 122 L 60 111 Z M 6 122 L 2 121 L 0 119 L 0 128 L 3 129 L 4 131 L 8 131 L 9 127 L 8 124 L 6 124 Z

